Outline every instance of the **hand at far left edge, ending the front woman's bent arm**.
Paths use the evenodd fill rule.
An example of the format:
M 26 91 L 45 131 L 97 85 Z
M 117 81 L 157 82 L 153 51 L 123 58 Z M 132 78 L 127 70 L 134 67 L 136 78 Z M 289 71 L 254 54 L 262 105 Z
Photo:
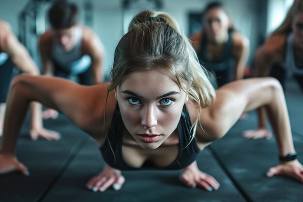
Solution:
M 15 155 L 0 154 L 0 174 L 13 171 L 21 171 L 24 175 L 30 175 L 28 168 L 20 163 Z

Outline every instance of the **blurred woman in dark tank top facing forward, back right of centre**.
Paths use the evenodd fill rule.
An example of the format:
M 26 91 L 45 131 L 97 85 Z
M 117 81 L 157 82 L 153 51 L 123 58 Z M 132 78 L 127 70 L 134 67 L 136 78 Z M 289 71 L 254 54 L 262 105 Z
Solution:
M 203 30 L 191 36 L 200 63 L 220 87 L 244 77 L 249 40 L 235 31 L 222 3 L 211 2 L 203 11 Z

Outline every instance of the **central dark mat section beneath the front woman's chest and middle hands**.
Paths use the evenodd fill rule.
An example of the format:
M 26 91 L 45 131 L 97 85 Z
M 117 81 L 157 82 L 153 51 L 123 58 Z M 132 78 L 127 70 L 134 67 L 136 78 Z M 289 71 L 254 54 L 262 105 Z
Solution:
M 97 193 L 87 190 L 85 184 L 101 171 L 103 163 L 96 143 L 89 140 L 43 202 L 245 201 L 207 150 L 199 156 L 198 166 L 220 182 L 219 190 L 212 192 L 183 186 L 178 180 L 180 171 L 124 171 L 126 181 L 121 190 L 109 189 Z

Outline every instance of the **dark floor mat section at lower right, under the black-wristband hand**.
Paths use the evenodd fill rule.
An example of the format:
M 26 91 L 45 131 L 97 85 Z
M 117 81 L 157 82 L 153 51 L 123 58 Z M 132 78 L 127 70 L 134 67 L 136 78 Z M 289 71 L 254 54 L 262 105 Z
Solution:
M 234 130 L 236 130 L 235 125 Z M 241 121 L 242 127 L 245 121 Z M 241 130 L 239 130 L 241 131 Z M 293 133 L 299 160 L 303 162 L 303 136 Z M 302 202 L 303 185 L 286 177 L 266 177 L 270 167 L 278 165 L 275 140 L 246 140 L 241 132 L 228 133 L 211 146 L 234 183 L 248 201 L 252 202 Z

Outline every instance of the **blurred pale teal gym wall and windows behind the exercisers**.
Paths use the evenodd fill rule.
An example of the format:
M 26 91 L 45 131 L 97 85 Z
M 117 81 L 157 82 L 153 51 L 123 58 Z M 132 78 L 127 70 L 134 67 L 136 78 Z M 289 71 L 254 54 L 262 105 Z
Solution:
M 195 16 L 212 0 L 70 0 L 79 8 L 79 20 L 100 37 L 106 50 L 104 75 L 108 79 L 114 50 L 131 18 L 142 9 L 167 12 L 189 35 L 199 29 Z M 19 40 L 40 65 L 38 35 L 49 27 L 47 10 L 53 0 L 1 0 L 0 18 L 7 20 Z M 293 0 L 221 0 L 236 30 L 250 41 L 247 65 L 253 68 L 254 53 L 266 36 L 284 19 Z

